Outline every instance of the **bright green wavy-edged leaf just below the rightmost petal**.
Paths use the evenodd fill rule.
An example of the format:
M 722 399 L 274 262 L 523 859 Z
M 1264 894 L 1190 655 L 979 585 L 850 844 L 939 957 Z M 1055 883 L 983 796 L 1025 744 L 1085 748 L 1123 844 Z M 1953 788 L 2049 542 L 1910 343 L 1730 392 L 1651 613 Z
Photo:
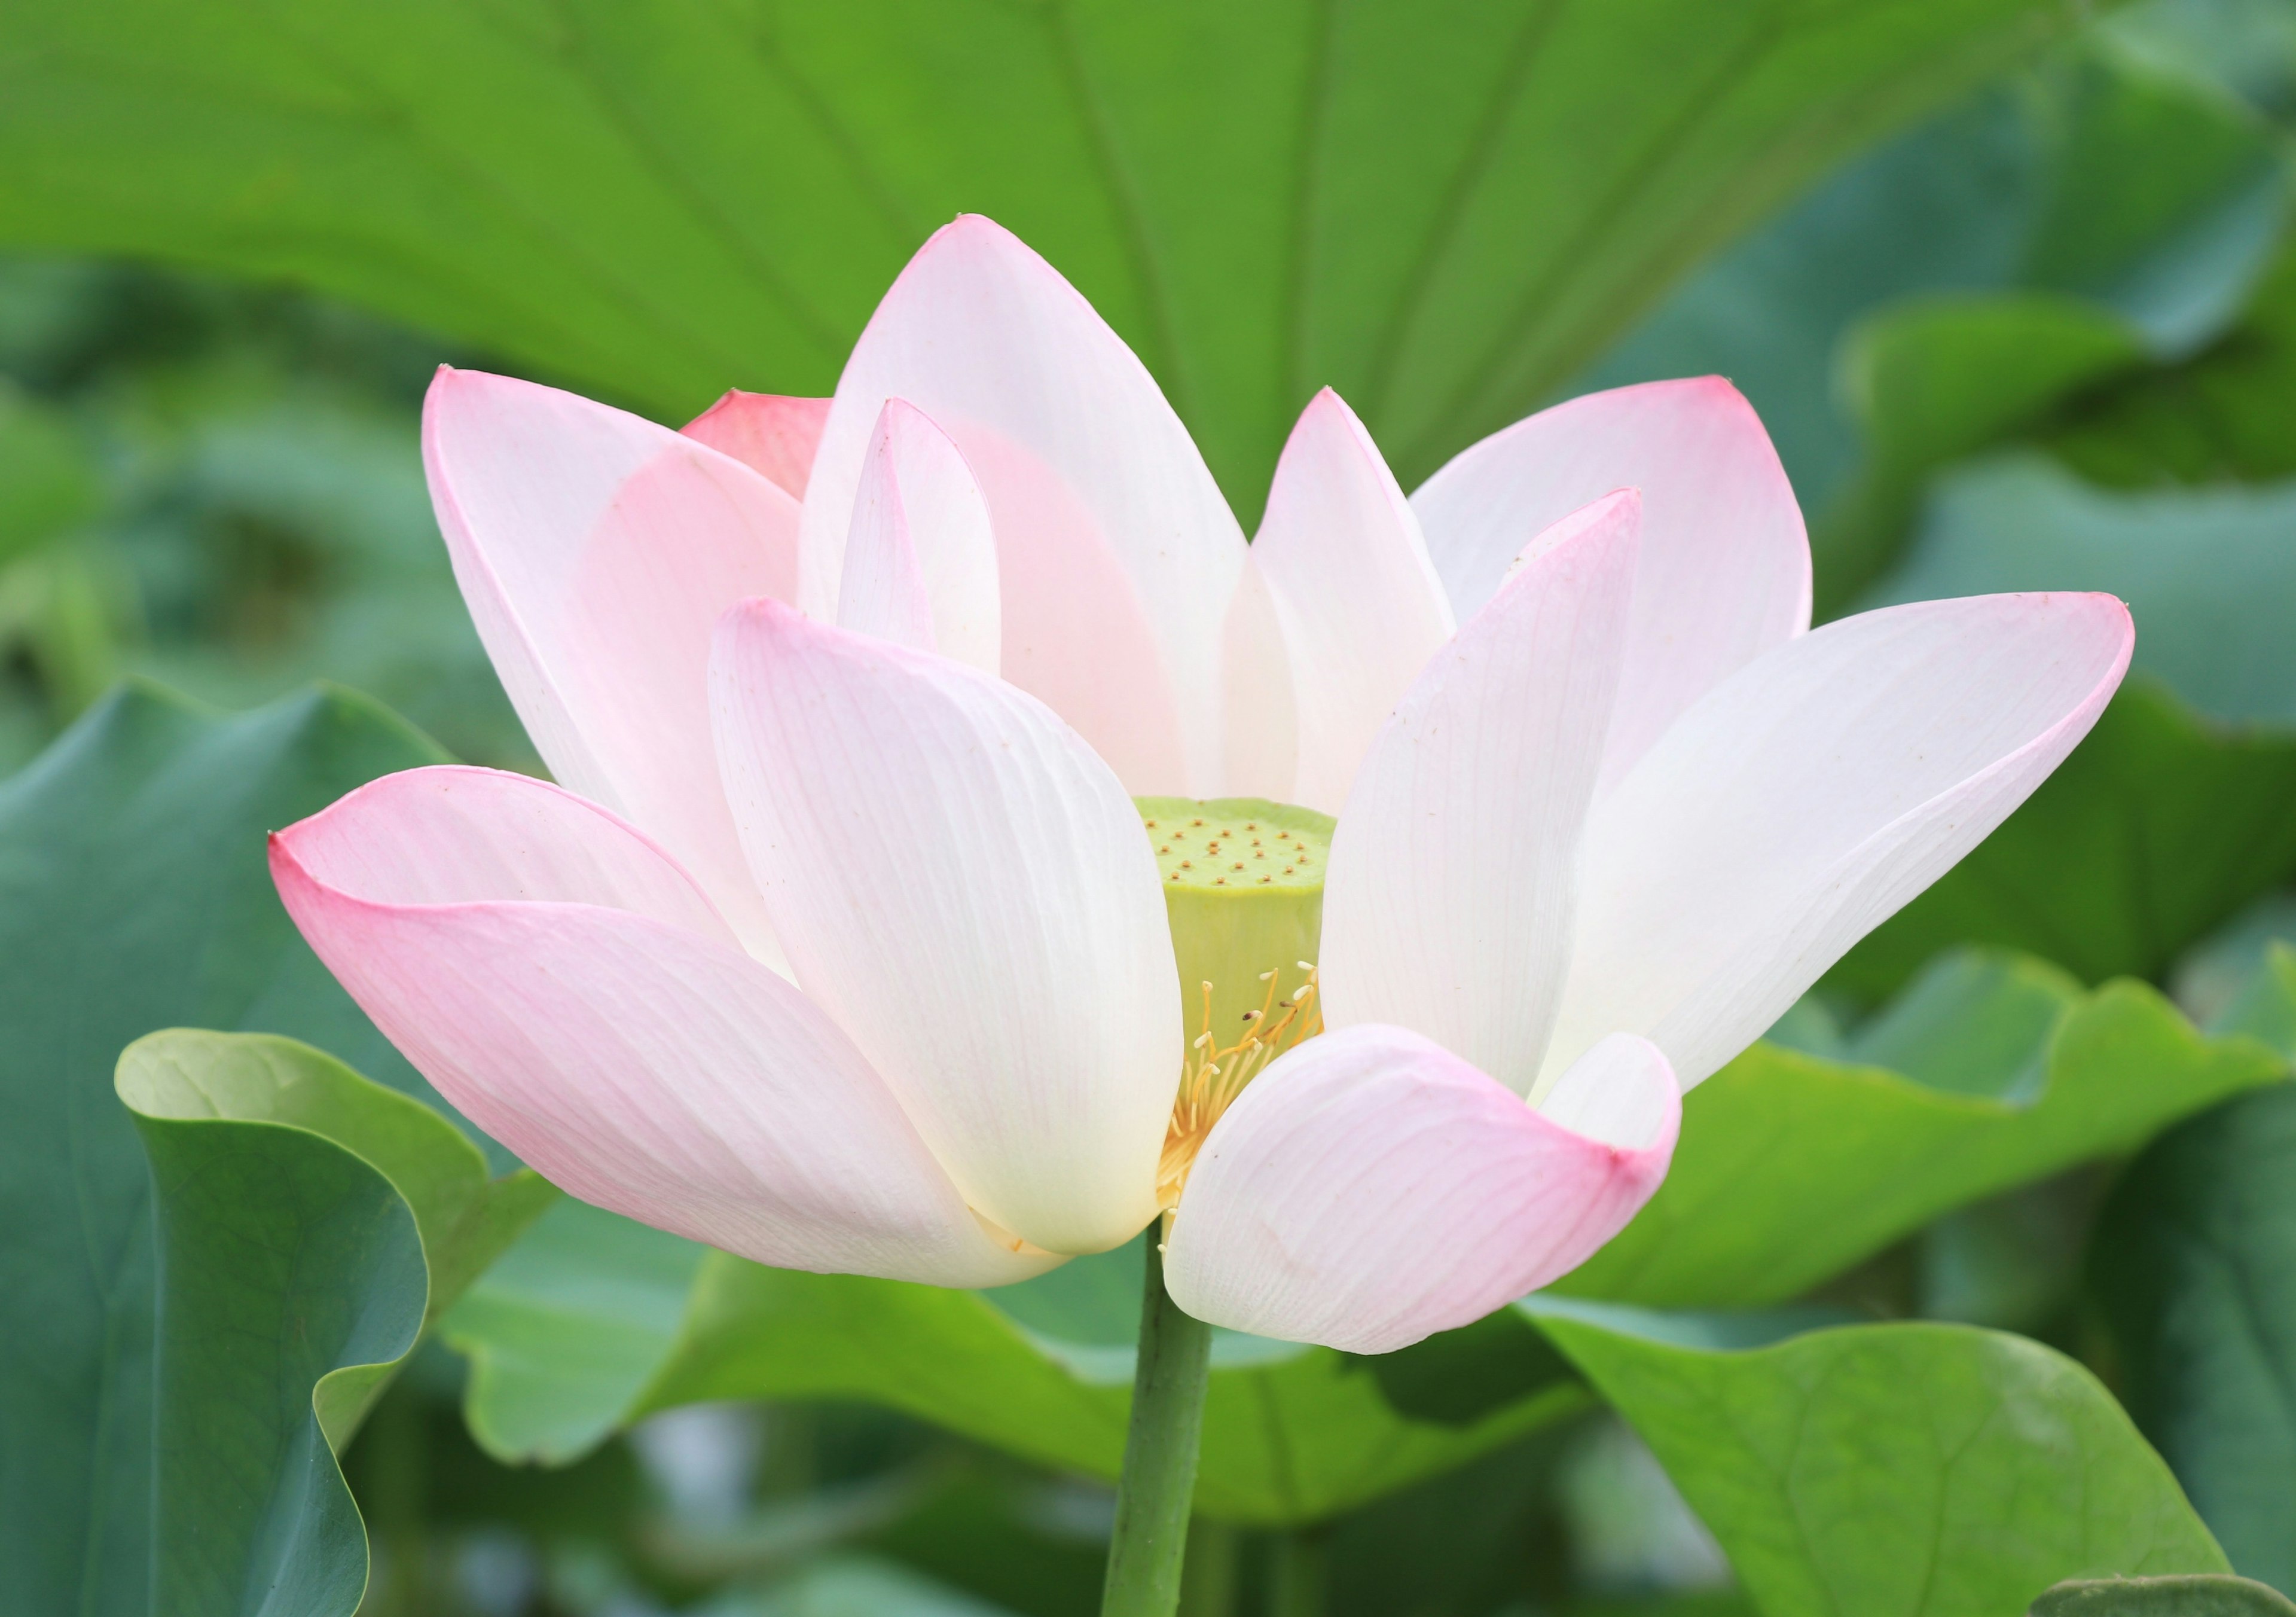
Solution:
M 1690 1091 L 1667 1183 L 1557 1289 L 1658 1307 L 1791 1298 L 1940 1213 L 2278 1080 L 2140 983 L 1947 956 L 1844 1059 L 1754 1045 Z

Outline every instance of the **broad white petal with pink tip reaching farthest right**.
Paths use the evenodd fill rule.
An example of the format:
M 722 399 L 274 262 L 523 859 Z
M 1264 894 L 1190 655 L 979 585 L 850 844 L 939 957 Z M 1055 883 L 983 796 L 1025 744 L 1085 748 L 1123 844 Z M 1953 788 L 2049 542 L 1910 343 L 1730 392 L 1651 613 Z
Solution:
M 1697 1084 L 2000 825 L 2128 668 L 2110 595 L 1890 606 L 1717 687 L 1596 806 L 1543 1082 L 1605 1031 Z

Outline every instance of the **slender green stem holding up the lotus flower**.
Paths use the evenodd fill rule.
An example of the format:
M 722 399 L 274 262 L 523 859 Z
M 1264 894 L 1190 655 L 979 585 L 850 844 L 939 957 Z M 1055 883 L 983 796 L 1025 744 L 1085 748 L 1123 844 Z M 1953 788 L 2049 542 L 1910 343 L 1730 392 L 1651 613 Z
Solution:
M 1157 1231 L 1162 1233 L 1162 1231 Z M 1116 1484 L 1116 1530 L 1102 1617 L 1173 1617 L 1187 1514 L 1196 1493 L 1203 1392 L 1212 1380 L 1212 1328 L 1189 1318 L 1164 1291 L 1164 1252 L 1148 1240 L 1139 1369 L 1132 1374 L 1132 1429 Z

